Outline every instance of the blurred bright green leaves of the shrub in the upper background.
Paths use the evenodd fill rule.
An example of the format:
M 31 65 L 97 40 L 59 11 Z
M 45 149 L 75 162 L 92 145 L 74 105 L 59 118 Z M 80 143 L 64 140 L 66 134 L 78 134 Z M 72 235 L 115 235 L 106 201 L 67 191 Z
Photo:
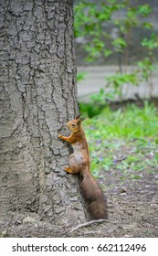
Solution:
M 132 0 L 121 0 L 119 3 L 117 0 L 96 3 L 85 0 L 79 1 L 74 7 L 75 37 L 82 38 L 82 47 L 88 53 L 86 61 L 91 63 L 101 57 L 107 59 L 113 54 L 118 55 L 120 72 L 107 79 L 107 83 L 111 83 L 114 88 L 113 94 L 121 95 L 124 84 L 138 85 L 140 81 L 148 81 L 152 77 L 157 63 L 154 51 L 158 48 L 158 35 L 157 32 L 153 32 L 153 24 L 147 21 L 151 13 L 150 5 L 133 6 Z M 114 27 L 116 33 L 112 35 L 107 27 Z M 132 63 L 136 69 L 127 73 L 123 71 L 122 65 L 128 65 L 130 62 L 129 51 L 135 27 L 149 30 L 150 36 L 142 38 L 141 42 L 146 56 L 137 63 Z M 102 91 L 100 94 L 103 96 Z M 100 98 L 98 95 L 98 99 Z

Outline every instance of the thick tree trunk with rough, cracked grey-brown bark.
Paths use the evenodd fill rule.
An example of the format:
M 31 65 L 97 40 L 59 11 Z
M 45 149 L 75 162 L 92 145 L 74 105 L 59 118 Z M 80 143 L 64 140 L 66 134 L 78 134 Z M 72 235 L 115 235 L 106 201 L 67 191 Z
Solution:
M 1 217 L 85 220 L 78 177 L 63 171 L 68 146 L 58 140 L 79 113 L 72 2 L 0 0 Z

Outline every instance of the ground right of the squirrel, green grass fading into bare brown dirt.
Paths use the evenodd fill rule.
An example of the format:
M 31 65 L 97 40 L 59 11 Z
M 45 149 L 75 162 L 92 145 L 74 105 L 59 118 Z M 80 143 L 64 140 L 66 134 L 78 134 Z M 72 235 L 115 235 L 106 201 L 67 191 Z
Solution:
M 91 172 L 109 206 L 110 222 L 95 236 L 158 237 L 158 110 L 147 101 L 114 109 L 83 123 Z

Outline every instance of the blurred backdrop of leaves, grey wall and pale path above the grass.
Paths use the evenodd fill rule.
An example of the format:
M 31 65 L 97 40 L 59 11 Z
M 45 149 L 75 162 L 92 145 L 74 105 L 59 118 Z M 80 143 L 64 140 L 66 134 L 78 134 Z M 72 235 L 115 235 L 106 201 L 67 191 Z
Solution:
M 158 5 L 75 0 L 79 101 L 157 101 Z

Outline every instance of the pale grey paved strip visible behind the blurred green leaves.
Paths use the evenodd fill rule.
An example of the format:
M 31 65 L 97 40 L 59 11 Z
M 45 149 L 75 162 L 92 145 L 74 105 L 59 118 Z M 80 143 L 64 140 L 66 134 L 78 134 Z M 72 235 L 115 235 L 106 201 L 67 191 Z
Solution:
M 133 68 L 128 68 L 133 69 Z M 89 101 L 90 94 L 100 91 L 106 86 L 105 77 L 111 76 L 118 71 L 116 66 L 78 67 L 78 72 L 87 72 L 85 80 L 78 83 L 79 101 Z M 123 99 L 134 99 L 135 94 L 146 99 L 158 97 L 158 71 L 153 72 L 153 88 L 147 82 L 142 82 L 139 86 L 123 86 Z

